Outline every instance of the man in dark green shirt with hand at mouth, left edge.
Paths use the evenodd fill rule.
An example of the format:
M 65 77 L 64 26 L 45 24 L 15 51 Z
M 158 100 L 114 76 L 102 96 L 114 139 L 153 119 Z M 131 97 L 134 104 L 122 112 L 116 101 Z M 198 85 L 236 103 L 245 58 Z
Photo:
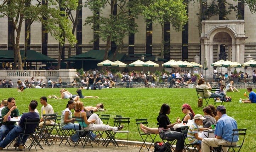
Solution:
M 6 106 L 4 109 L 2 109 L 2 126 L 0 128 L 0 141 L 4 139 L 7 132 L 11 131 L 15 126 L 16 122 L 6 122 L 8 120 L 8 116 L 18 117 L 19 116 L 19 110 L 16 106 L 16 101 L 14 98 L 8 98 L 7 100 L 8 106 Z

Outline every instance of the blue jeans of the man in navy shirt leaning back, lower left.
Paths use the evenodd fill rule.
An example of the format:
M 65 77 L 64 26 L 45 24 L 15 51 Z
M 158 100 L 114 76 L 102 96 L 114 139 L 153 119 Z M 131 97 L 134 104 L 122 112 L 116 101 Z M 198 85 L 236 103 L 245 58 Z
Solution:
M 1 127 L 2 128 L 2 127 Z M 21 128 L 21 126 L 16 125 L 16 127 L 14 127 L 6 136 L 5 136 L 5 140 L 2 140 L 0 142 L 0 147 L 5 148 L 8 144 L 10 144 L 11 141 L 13 141 L 17 136 L 19 136 L 19 138 L 16 141 L 16 144 L 20 145 L 20 144 L 25 144 L 25 142 L 28 139 L 29 135 L 24 135 L 24 130 Z M 23 139 L 21 141 L 21 138 L 23 136 Z

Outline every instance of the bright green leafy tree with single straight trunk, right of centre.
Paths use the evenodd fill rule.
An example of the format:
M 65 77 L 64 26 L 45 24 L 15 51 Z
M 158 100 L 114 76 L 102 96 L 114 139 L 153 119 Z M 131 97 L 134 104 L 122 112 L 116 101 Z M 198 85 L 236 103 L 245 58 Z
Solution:
M 185 8 L 186 5 L 183 4 L 183 0 L 150 0 L 147 1 L 147 5 L 143 6 L 142 14 L 145 21 L 161 25 L 161 58 L 164 57 L 164 23 L 170 22 L 173 29 L 181 31 L 188 21 Z

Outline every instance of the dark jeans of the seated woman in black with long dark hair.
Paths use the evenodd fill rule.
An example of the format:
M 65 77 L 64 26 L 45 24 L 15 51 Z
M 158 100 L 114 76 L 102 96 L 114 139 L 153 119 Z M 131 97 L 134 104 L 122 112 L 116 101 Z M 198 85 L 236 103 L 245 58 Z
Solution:
M 160 138 L 162 139 L 177 139 L 176 149 L 182 150 L 184 148 L 184 135 L 177 131 L 165 130 L 164 133 L 160 133 Z

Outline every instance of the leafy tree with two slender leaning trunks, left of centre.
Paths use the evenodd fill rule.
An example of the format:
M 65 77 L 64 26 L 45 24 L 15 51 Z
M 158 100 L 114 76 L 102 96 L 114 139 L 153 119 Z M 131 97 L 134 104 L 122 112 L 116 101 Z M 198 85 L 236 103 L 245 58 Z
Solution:
M 107 5 L 110 6 L 111 11 L 108 17 L 103 17 L 102 9 Z M 118 46 L 116 54 L 123 48 L 124 37 L 129 33 L 137 32 L 137 24 L 132 20 L 139 14 L 139 9 L 133 0 L 88 0 L 85 6 L 93 12 L 93 16 L 86 18 L 85 25 L 93 24 L 92 29 L 98 31 L 98 37 L 106 41 L 104 60 L 108 57 L 111 41 Z M 115 7 L 118 10 L 117 14 L 114 14 Z

